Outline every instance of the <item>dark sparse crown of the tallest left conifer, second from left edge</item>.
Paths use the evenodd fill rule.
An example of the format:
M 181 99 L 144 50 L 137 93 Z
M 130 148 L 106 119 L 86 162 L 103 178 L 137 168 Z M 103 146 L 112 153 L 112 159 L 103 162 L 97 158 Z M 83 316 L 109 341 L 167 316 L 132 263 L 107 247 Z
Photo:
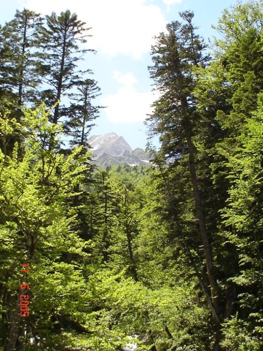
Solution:
M 54 12 L 46 16 L 47 25 L 38 33 L 38 42 L 44 52 L 39 64 L 39 74 L 48 89 L 42 91 L 42 99 L 48 106 L 57 103 L 52 122 L 57 124 L 60 117 L 67 115 L 67 109 L 61 101 L 71 97 L 72 89 L 81 84 L 82 77 L 89 70 L 81 71 L 77 64 L 82 60 L 87 49 L 79 46 L 86 42 L 85 23 L 78 20 L 69 10 L 57 16 Z M 45 88 L 45 86 L 44 86 Z

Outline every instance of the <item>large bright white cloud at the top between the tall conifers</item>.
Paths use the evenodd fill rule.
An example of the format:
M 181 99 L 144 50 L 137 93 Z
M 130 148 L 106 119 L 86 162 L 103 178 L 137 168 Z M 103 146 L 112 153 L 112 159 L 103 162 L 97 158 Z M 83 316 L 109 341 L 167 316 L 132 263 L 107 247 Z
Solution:
M 164 0 L 174 3 L 180 0 Z M 104 54 L 139 59 L 151 49 L 152 37 L 165 28 L 160 7 L 150 0 L 24 0 L 24 6 L 43 15 L 69 9 L 93 27 L 89 47 Z

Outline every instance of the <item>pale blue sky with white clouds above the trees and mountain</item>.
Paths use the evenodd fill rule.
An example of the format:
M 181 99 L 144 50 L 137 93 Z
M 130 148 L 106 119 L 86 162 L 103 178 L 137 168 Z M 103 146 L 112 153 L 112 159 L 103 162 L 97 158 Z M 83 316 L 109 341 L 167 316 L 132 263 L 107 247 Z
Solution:
M 234 0 L 0 0 L 0 24 L 13 19 L 16 10 L 29 9 L 42 15 L 70 10 L 91 29 L 88 53 L 83 68 L 94 72 L 101 95 L 94 102 L 106 106 L 95 120 L 92 135 L 114 132 L 131 148 L 145 148 L 147 130 L 144 120 L 156 100 L 148 66 L 154 36 L 171 21 L 180 20 L 179 12 L 194 12 L 198 33 L 207 41 L 217 32 L 211 28 L 222 11 Z M 246 1 L 244 1 L 246 2 Z M 156 143 L 156 141 L 155 141 Z

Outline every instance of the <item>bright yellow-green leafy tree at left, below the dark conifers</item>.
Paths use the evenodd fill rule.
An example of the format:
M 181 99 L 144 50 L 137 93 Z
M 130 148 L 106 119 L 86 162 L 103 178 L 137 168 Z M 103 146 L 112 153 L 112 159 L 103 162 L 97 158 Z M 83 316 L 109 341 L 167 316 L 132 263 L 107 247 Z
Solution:
M 2 151 L 0 154 L 3 291 L 6 296 L 17 296 L 19 285 L 25 279 L 19 272 L 19 264 L 29 262 L 30 273 L 25 283 L 30 286 L 32 317 L 26 324 L 35 346 L 40 338 L 40 347 L 56 343 L 55 316 L 69 315 L 79 320 L 77 311 L 80 308 L 83 312 L 86 305 L 82 297 L 86 289 L 80 267 L 61 259 L 65 252 L 83 256 L 85 243 L 71 230 L 76 208 L 69 208 L 66 202 L 75 195 L 74 186 L 83 179 L 85 156 L 80 155 L 80 148 L 73 150 L 67 158 L 57 153 L 62 127 L 48 119 L 45 106 L 35 111 L 26 110 L 23 125 L 30 133 L 23 145 L 23 156 L 19 156 L 17 144 L 11 156 Z M 12 125 L 7 124 L 7 119 L 2 123 L 1 133 L 12 133 Z M 56 145 L 49 149 L 47 141 L 54 134 Z M 82 300 L 83 305 L 75 305 L 72 312 L 74 300 L 77 303 Z M 3 308 L 13 309 L 9 303 L 7 300 Z M 49 338 L 45 341 L 47 335 Z

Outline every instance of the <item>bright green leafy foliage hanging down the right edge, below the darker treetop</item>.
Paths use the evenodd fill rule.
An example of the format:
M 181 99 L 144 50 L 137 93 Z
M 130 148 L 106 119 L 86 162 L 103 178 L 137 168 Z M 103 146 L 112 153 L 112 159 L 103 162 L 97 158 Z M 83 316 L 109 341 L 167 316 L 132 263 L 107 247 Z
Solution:
M 246 120 L 244 132 L 237 138 L 239 149 L 235 155 L 225 155 L 230 169 L 230 189 L 227 206 L 222 210 L 223 223 L 231 228 L 224 234 L 236 248 L 239 261 L 239 274 L 229 280 L 242 287 L 240 316 L 246 315 L 254 326 L 259 321 L 253 313 L 262 313 L 262 133 L 260 95 L 257 111 Z

